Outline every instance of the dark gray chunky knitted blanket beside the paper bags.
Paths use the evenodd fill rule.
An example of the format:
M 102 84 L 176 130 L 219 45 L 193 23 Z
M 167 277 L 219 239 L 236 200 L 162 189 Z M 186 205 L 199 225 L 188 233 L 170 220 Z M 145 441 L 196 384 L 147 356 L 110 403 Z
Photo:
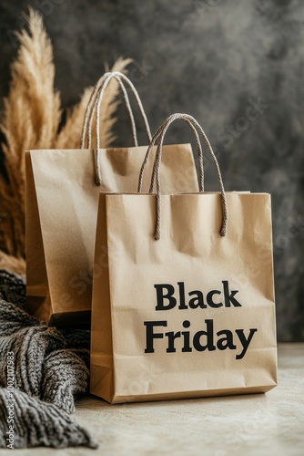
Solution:
M 89 331 L 48 327 L 25 308 L 24 280 L 0 270 L 0 448 L 96 448 L 70 416 L 87 390 Z

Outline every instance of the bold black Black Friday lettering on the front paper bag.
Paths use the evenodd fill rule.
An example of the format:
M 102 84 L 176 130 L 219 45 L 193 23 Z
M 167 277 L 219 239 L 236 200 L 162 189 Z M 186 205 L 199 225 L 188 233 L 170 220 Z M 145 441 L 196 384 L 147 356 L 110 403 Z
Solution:
M 157 311 L 171 310 L 191 310 L 191 309 L 206 309 L 209 307 L 220 308 L 238 308 L 242 305 L 236 299 L 235 295 L 238 290 L 229 290 L 228 280 L 222 281 L 222 290 L 211 290 L 208 293 L 203 293 L 200 290 L 185 292 L 184 282 L 177 282 L 178 291 L 170 284 L 154 285 L 157 292 Z M 219 310 L 218 310 L 219 312 Z M 249 329 L 248 336 L 245 335 L 245 329 L 235 329 L 234 332 L 229 329 L 221 329 L 215 332 L 214 320 L 206 319 L 204 321 L 206 327 L 195 334 L 190 331 L 178 330 L 161 332 L 160 327 L 167 327 L 166 320 L 145 321 L 146 326 L 146 348 L 145 353 L 155 352 L 156 339 L 167 338 L 167 353 L 176 353 L 177 347 L 181 347 L 183 353 L 192 352 L 192 350 L 214 351 L 218 350 L 236 350 L 237 343 L 241 345 L 241 351 L 236 355 L 236 359 L 242 359 L 246 355 L 249 344 L 254 334 L 258 331 L 257 327 Z M 183 328 L 187 329 L 191 326 L 189 320 L 184 320 Z M 177 346 L 177 347 L 176 347 Z

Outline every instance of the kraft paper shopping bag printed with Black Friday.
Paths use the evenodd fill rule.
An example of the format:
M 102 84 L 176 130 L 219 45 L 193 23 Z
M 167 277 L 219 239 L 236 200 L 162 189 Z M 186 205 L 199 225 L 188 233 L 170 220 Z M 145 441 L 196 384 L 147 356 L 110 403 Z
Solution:
M 175 119 L 202 134 L 220 192 L 161 194 Z M 99 196 L 91 392 L 119 403 L 268 391 L 277 384 L 270 195 L 225 192 L 191 116 L 168 118 L 147 156 L 156 140 L 157 194 L 140 193 L 145 161 L 138 193 Z

